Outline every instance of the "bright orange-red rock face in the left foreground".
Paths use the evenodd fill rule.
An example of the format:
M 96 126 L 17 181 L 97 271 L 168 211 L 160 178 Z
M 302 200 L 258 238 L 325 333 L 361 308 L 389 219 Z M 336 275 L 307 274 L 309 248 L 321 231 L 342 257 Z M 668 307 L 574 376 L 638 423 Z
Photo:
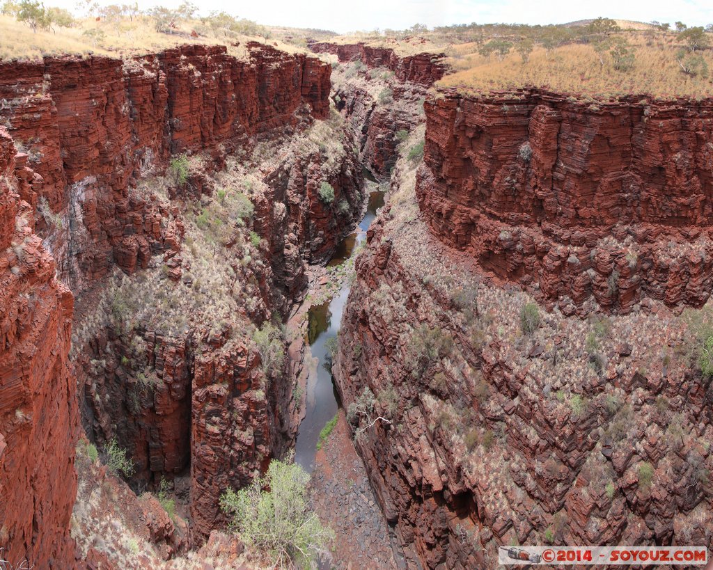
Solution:
M 41 178 L 0 128 L 0 545 L 19 567 L 70 568 L 76 493 L 73 297 L 34 232 Z

